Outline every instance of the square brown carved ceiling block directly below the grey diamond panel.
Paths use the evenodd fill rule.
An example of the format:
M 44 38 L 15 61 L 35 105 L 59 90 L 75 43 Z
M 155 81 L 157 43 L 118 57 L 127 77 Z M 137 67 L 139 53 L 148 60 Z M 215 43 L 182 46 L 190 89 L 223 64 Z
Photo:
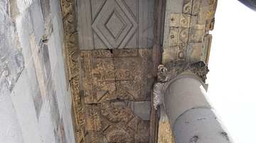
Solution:
M 81 51 L 85 103 L 149 101 L 151 49 Z

